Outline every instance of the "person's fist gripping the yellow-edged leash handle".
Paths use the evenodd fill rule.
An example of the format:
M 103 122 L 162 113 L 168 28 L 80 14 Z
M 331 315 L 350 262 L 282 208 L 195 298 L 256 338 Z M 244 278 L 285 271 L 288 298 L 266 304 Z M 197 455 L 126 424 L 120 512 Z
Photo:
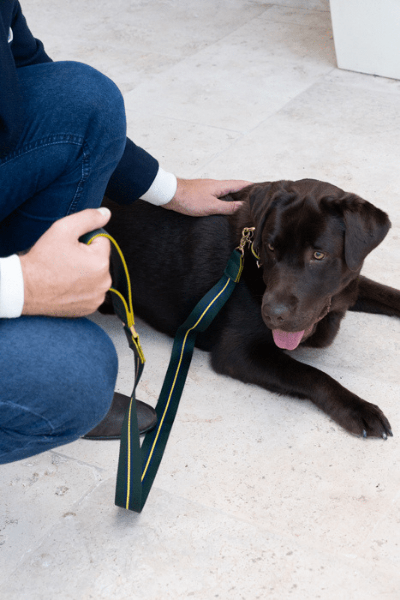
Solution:
M 95 238 L 88 246 L 81 235 L 104 227 L 108 208 L 89 208 L 52 226 L 20 256 L 25 302 L 22 314 L 83 317 L 104 301 L 111 286 L 110 241 Z

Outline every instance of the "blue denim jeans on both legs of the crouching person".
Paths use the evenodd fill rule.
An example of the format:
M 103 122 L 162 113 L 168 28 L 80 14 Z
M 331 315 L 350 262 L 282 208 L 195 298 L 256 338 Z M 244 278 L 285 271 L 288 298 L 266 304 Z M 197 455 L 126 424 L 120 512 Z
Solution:
M 56 220 L 100 206 L 124 152 L 124 101 L 77 62 L 18 70 L 25 127 L 0 160 L 0 256 L 29 248 Z M 109 409 L 115 348 L 88 319 L 0 319 L 0 463 L 76 440 Z

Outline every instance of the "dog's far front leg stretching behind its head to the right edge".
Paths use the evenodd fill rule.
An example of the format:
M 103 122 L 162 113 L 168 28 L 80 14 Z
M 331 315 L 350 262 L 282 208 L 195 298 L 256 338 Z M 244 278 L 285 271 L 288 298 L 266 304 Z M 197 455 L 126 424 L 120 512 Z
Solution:
M 356 304 L 349 310 L 400 317 L 400 290 L 360 275 L 359 295 Z

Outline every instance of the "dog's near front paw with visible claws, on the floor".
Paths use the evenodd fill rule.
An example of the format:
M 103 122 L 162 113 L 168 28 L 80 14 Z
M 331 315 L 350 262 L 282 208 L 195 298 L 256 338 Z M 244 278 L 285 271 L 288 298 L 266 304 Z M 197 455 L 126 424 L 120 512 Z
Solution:
M 390 423 L 381 409 L 361 398 L 343 410 L 339 422 L 357 436 L 383 437 L 384 440 L 387 436 L 393 436 Z

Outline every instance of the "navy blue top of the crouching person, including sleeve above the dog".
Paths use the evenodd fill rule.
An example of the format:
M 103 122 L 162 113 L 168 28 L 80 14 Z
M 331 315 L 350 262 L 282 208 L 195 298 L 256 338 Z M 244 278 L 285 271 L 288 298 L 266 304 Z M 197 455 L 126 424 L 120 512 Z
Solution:
M 10 28 L 13 41 L 8 43 Z M 29 31 L 18 0 L 0 0 L 0 157 L 15 148 L 23 128 L 23 104 L 17 69 L 51 62 L 43 44 Z M 127 138 L 124 155 L 106 194 L 130 204 L 148 191 L 158 172 L 158 161 Z

